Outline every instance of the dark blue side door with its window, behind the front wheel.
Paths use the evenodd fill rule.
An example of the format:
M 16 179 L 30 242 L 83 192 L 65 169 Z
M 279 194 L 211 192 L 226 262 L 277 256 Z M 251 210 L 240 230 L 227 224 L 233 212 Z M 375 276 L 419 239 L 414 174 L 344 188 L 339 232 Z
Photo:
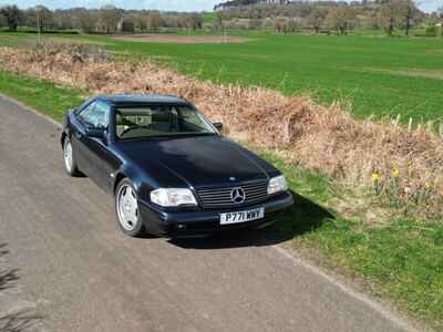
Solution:
M 76 157 L 79 168 L 84 172 L 103 189 L 109 189 L 110 176 L 106 172 L 105 159 L 107 158 L 110 106 L 101 101 L 92 102 L 78 114 L 81 122 L 74 133 Z M 102 132 L 101 137 L 89 135 L 92 131 Z

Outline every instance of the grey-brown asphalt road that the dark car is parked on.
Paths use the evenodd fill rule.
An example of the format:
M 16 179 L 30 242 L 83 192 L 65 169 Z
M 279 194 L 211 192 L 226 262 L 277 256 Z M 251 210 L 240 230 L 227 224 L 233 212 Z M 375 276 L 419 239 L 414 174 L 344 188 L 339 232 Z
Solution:
M 274 245 L 124 236 L 112 198 L 64 174 L 59 128 L 0 97 L 0 331 L 410 329 Z

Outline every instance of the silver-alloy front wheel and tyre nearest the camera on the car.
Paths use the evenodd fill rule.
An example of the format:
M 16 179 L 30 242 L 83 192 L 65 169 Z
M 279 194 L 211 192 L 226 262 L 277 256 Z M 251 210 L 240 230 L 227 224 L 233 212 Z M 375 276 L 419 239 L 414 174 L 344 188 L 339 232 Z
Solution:
M 137 194 L 127 179 L 120 181 L 115 191 L 115 214 L 120 228 L 131 237 L 144 235 L 144 226 L 138 210 Z

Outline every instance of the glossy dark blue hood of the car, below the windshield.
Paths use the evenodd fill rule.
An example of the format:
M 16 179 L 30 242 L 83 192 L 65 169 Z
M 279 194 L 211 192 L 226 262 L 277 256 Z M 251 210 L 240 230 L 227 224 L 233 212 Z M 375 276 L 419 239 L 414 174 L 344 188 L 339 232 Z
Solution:
M 175 175 L 194 187 L 264 179 L 276 172 L 268 163 L 223 136 L 152 138 L 125 142 L 121 146 L 126 157 L 151 177 L 164 178 L 164 175 L 152 174 L 152 169 L 156 169 L 155 173 Z

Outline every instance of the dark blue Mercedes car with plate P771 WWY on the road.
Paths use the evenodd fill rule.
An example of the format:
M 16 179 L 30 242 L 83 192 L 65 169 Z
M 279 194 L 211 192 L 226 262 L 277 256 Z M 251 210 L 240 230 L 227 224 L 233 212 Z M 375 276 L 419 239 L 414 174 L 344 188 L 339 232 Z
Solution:
M 220 134 L 189 102 L 97 96 L 66 113 L 65 169 L 115 196 L 130 236 L 205 236 L 260 228 L 293 204 L 272 165 Z

